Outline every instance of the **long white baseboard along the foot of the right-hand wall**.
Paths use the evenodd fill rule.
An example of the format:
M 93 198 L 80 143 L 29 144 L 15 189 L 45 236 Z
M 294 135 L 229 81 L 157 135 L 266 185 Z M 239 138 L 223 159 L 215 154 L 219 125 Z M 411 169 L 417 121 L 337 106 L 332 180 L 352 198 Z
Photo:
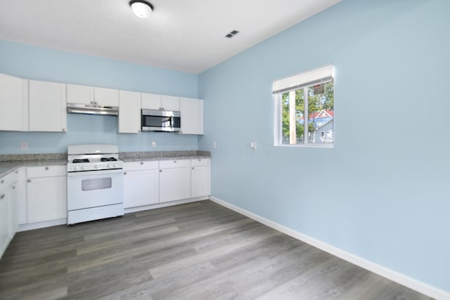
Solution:
M 263 223 L 266 226 L 274 228 L 286 235 L 290 235 L 291 237 L 296 238 L 297 240 L 301 240 L 302 242 L 306 242 L 307 244 L 311 244 L 314 247 L 317 247 L 325 252 L 333 254 L 334 256 L 338 256 L 340 259 L 344 259 L 345 261 L 349 261 L 356 266 L 360 266 L 361 268 L 365 268 L 366 270 L 370 270 L 373 273 L 383 276 L 389 280 L 399 283 L 400 285 L 404 285 L 405 287 L 409 287 L 410 289 L 414 289 L 417 292 L 425 294 L 435 299 L 439 300 L 450 300 L 450 293 L 446 292 L 442 289 L 438 289 L 437 287 L 433 287 L 431 285 L 427 285 L 424 282 L 420 282 L 413 278 L 410 278 L 404 274 L 398 273 L 389 268 L 385 268 L 383 266 L 378 265 L 377 263 L 373 263 L 372 261 L 368 261 L 367 259 L 363 259 L 362 257 L 356 256 L 349 252 L 345 252 L 342 249 L 334 247 L 326 242 L 321 242 L 320 240 L 316 240 L 313 237 L 309 237 L 308 235 L 304 235 L 299 233 L 293 229 L 285 227 L 281 224 L 275 223 L 274 221 L 270 221 L 269 219 L 265 219 L 262 216 L 258 216 L 257 214 L 253 214 L 250 211 L 245 209 L 241 209 L 240 207 L 236 207 L 236 205 L 225 202 L 224 200 L 220 200 L 217 197 L 210 196 L 210 200 L 220 204 L 224 207 L 232 209 L 244 216 L 248 216 L 250 219 L 254 219 L 260 223 Z

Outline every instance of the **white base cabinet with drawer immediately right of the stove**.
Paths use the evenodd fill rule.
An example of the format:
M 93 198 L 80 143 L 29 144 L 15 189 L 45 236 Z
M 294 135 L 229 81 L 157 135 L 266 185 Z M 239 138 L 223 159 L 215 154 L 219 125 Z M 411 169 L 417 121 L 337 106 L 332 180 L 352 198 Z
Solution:
M 124 208 L 159 202 L 158 161 L 124 163 Z

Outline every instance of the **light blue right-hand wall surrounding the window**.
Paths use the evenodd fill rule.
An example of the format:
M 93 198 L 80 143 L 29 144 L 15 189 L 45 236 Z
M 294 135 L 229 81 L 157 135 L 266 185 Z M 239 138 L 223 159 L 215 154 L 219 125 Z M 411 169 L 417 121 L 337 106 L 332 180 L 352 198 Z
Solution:
M 449 11 L 344 0 L 200 74 L 212 195 L 450 291 Z M 327 63 L 335 148 L 274 147 L 272 82 Z

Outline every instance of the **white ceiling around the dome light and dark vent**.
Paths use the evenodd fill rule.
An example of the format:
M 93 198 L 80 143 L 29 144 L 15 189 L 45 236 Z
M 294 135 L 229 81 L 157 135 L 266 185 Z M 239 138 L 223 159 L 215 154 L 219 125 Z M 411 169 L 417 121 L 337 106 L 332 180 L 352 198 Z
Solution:
M 196 74 L 340 1 L 0 0 L 0 39 Z

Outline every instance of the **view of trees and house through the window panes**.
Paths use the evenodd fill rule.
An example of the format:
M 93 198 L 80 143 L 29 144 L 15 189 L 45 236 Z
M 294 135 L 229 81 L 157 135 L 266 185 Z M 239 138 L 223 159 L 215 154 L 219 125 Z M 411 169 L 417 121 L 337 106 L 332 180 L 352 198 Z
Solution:
M 282 94 L 281 105 L 283 144 L 333 143 L 333 81 L 285 92 Z M 307 130 L 304 124 L 307 124 Z M 304 141 L 305 131 L 307 141 Z

